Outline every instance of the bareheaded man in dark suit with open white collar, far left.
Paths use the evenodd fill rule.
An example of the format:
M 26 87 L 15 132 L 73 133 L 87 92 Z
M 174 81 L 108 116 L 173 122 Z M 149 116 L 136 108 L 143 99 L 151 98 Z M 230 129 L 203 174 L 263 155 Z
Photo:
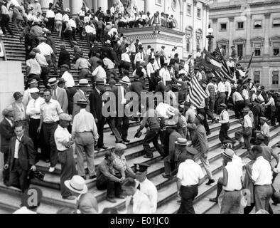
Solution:
M 36 151 L 31 138 L 24 135 L 22 124 L 16 125 L 14 132 L 16 137 L 11 138 L 4 169 L 10 170 L 9 185 L 18 187 L 24 192 L 30 185 L 29 171 L 36 171 Z

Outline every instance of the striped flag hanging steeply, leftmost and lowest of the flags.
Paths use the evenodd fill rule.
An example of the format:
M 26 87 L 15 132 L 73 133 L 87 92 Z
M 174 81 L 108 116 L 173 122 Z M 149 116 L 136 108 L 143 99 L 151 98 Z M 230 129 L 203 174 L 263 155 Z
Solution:
M 199 108 L 201 103 L 203 103 L 203 100 L 205 100 L 205 98 L 208 98 L 208 95 L 205 92 L 205 90 L 203 90 L 203 88 L 200 86 L 198 78 L 195 76 L 195 71 L 191 61 L 189 63 L 189 66 L 190 68 L 188 81 L 190 86 L 190 103 L 195 105 L 196 108 Z

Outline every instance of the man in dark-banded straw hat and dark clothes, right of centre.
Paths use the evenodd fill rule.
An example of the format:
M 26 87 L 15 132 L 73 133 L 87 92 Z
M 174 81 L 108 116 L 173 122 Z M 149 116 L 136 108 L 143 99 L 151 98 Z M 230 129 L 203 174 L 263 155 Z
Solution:
M 178 138 L 182 138 L 176 131 L 177 125 L 174 120 L 166 120 L 165 127 L 163 130 L 166 130 L 165 138 L 168 138 L 168 155 L 164 158 L 164 174 L 163 177 L 167 179 L 172 179 L 172 172 L 176 170 L 175 164 L 175 150 L 176 144 L 175 142 Z

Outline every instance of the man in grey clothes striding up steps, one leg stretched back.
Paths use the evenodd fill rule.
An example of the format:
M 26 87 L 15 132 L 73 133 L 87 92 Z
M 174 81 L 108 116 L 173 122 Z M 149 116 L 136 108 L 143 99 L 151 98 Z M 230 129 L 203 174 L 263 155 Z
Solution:
M 212 172 L 210 170 L 209 161 L 208 161 L 209 145 L 208 145 L 207 133 L 203 126 L 204 120 L 205 117 L 203 115 L 201 114 L 196 115 L 195 118 L 196 130 L 192 138 L 192 145 L 196 150 L 198 150 L 199 158 L 207 173 L 208 183 L 206 185 L 211 185 L 212 183 L 215 182 L 215 180 L 213 179 Z

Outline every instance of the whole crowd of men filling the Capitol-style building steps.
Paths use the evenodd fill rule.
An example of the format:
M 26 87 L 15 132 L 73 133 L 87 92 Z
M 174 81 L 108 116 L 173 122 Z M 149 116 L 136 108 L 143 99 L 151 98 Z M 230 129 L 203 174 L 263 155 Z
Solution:
M 7 9 L 5 2 L 1 2 L 0 6 L 1 14 L 4 14 Z M 227 78 L 217 78 L 210 69 L 199 65 L 199 50 L 196 56 L 183 60 L 179 58 L 177 47 L 173 48 L 169 56 L 164 46 L 161 50 L 155 50 L 151 46 L 144 48 L 139 40 L 134 43 L 119 34 L 119 23 L 115 22 L 116 26 L 109 25 L 108 12 L 103 14 L 98 9 L 95 13 L 87 14 L 86 8 L 82 7 L 79 17 L 84 22 L 87 21 L 87 16 L 93 14 L 85 22 L 85 31 L 82 30 L 81 33 L 81 38 L 87 36 L 89 44 L 90 54 L 85 56 L 74 40 L 72 25 L 76 20 L 71 19 L 70 10 L 66 9 L 62 15 L 60 11 L 63 10 L 53 9 L 50 4 L 49 11 L 42 14 L 43 19 L 33 17 L 29 20 L 29 14 L 38 16 L 42 13 L 39 6 L 38 1 L 27 6 L 28 26 L 21 34 L 26 46 L 26 90 L 23 94 L 14 93 L 14 103 L 3 110 L 4 120 L 0 123 L 6 186 L 18 187 L 26 192 L 32 172 L 38 171 L 38 160 L 49 164 L 50 173 L 60 163 L 60 192 L 63 199 L 73 200 L 78 195 L 85 195 L 85 200 L 80 197 L 78 204 L 91 202 L 92 210 L 89 213 L 97 213 L 98 207 L 95 197 L 87 194 L 87 178 L 96 178 L 97 189 L 107 190 L 109 202 L 115 203 L 116 199 L 126 197 L 127 213 L 154 213 L 157 208 L 157 190 L 146 178 L 149 166 L 137 164 L 131 168 L 125 157 L 126 145 L 130 142 L 129 120 L 140 119 L 136 137 L 140 138 L 141 131 L 146 128 L 144 157 L 154 157 L 154 150 L 150 147 L 153 142 L 164 160 L 163 177 L 178 179 L 178 197 L 181 198 L 178 213 L 195 213 L 193 199 L 198 195 L 200 179 L 204 178 L 197 160 L 200 159 L 205 168 L 208 177 L 206 185 L 212 185 L 215 180 L 208 160 L 208 135 L 211 135 L 209 125 L 220 123 L 219 139 L 222 142 L 225 168 L 223 177 L 217 182 L 217 197 L 211 200 L 217 202 L 224 189 L 221 212 L 239 212 L 240 192 L 244 185 L 241 182 L 242 162 L 235 154 L 235 149 L 244 141 L 243 149 L 249 152 L 250 159 L 255 160 L 252 167 L 246 166 L 246 178 L 247 182 L 252 183 L 256 209 L 271 212 L 268 202 L 272 196 L 272 173 L 276 174 L 278 170 L 271 169 L 269 162 L 271 156 L 277 162 L 279 157 L 269 147 L 269 125 L 276 126 L 276 122 L 280 121 L 280 96 L 279 93 L 266 91 L 264 86 L 251 80 L 243 83 L 244 69 L 238 63 L 234 46 L 227 66 L 236 80 L 230 81 Z M 21 6 L 12 1 L 11 8 L 13 7 L 18 9 Z M 116 14 L 119 15 L 118 12 Z M 155 14 L 155 18 L 157 16 Z M 172 28 L 172 23 L 164 18 L 166 17 L 162 15 L 159 24 Z M 74 21 L 73 24 L 71 20 Z M 149 23 L 148 21 L 147 24 Z M 102 29 L 99 24 L 102 24 Z M 69 38 L 74 48 L 74 58 L 70 58 L 65 43 L 60 44 L 60 53 L 56 50 L 52 37 L 55 27 L 58 27 L 58 36 Z M 1 21 L 1 28 L 5 33 L 9 24 Z M 103 42 L 101 48 L 98 39 Z M 77 85 L 70 72 L 71 63 L 79 71 Z M 51 66 L 57 78 L 49 77 Z M 132 77 L 130 71 L 133 71 Z M 190 98 L 190 76 L 198 78 L 201 88 L 208 95 L 199 107 Z M 92 81 L 92 88 L 89 80 Z M 45 87 L 43 90 L 39 89 L 41 81 Z M 146 82 L 149 82 L 149 88 L 146 88 Z M 109 90 L 106 90 L 106 84 L 109 84 Z M 143 103 L 141 94 L 148 90 L 162 98 L 167 97 L 169 102 L 166 99 L 147 99 Z M 139 108 L 132 116 L 122 115 L 135 101 L 126 99 L 129 92 L 136 93 L 139 103 Z M 116 111 L 113 112 L 114 115 L 111 113 L 105 118 L 103 107 L 112 102 L 105 98 L 110 93 L 116 98 L 113 101 Z M 230 108 L 235 111 L 235 117 L 242 125 L 242 130 L 235 132 L 235 138 L 228 135 L 231 121 L 227 110 Z M 114 151 L 107 151 L 108 147 L 104 145 L 105 123 L 109 125 L 116 140 Z M 106 152 L 104 160 L 95 167 L 95 151 L 99 150 Z M 77 155 L 77 167 L 74 151 Z

